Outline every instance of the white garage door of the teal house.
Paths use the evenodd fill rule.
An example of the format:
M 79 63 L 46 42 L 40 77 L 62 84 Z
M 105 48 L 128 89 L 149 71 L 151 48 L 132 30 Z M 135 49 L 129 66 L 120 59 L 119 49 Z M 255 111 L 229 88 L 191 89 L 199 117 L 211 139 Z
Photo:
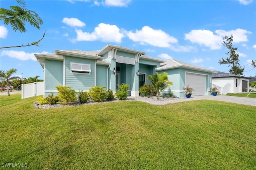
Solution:
M 195 91 L 192 95 L 206 95 L 206 75 L 186 73 L 185 85 L 190 85 Z

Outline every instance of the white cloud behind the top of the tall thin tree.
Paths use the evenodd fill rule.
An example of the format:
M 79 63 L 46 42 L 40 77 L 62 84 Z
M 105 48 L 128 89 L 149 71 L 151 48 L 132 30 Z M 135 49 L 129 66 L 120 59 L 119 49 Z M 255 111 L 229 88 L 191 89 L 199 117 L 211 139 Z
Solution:
M 248 42 L 248 38 L 246 34 L 252 34 L 252 32 L 243 30 L 241 28 L 238 28 L 236 30 L 230 30 L 230 31 L 216 30 L 215 32 L 216 34 L 218 34 L 218 36 L 222 36 L 222 37 L 230 36 L 232 34 L 234 43 Z

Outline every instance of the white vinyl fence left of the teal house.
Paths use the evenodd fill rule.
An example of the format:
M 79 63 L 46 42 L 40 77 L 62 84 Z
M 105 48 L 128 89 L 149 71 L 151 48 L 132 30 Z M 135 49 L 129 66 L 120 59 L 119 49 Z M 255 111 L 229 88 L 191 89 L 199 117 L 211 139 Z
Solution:
M 35 82 L 21 85 L 21 99 L 44 94 L 44 82 Z

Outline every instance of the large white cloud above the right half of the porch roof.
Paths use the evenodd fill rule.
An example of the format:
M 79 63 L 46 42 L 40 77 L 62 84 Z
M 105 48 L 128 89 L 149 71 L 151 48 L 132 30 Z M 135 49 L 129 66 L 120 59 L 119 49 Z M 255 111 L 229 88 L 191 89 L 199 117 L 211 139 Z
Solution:
M 140 42 L 141 45 L 150 44 L 157 47 L 170 47 L 171 43 L 177 43 L 178 40 L 172 36 L 169 36 L 162 30 L 154 30 L 149 26 L 144 26 L 142 30 L 136 30 L 136 32 L 127 32 L 128 38 L 134 42 Z

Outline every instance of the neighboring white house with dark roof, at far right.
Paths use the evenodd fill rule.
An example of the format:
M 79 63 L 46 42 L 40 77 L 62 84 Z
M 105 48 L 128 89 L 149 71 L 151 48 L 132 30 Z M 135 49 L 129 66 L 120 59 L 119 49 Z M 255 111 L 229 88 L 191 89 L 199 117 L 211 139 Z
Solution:
M 249 77 L 217 71 L 212 73 L 212 87 L 218 87 L 221 95 L 248 92 Z

